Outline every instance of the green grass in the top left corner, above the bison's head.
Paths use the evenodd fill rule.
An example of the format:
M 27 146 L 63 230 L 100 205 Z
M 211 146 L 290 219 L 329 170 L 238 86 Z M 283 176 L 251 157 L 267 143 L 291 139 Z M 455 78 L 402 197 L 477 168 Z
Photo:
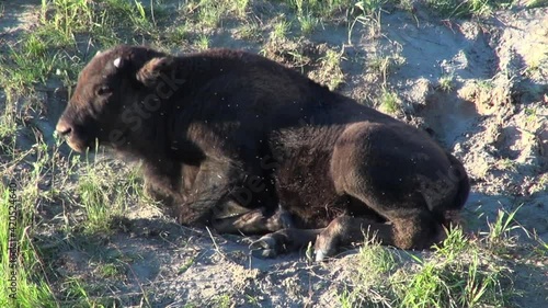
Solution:
M 126 0 L 43 0 L 39 14 L 38 27 L 25 33 L 0 58 L 0 88 L 10 98 L 14 92 L 25 94 L 52 77 L 65 85 L 72 84 L 83 64 L 94 55 L 93 46 L 113 46 L 124 31 L 157 38 L 155 21 L 162 15 L 156 12 L 152 20 L 152 9 Z M 85 41 L 91 50 L 82 53 L 77 42 L 83 37 L 89 37 Z

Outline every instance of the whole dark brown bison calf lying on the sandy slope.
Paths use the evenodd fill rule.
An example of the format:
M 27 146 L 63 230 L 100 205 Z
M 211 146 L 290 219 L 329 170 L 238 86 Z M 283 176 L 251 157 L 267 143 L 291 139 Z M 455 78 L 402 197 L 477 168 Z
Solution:
M 306 235 L 331 254 L 366 228 L 426 248 L 469 191 L 461 163 L 427 134 L 244 52 L 104 52 L 81 72 L 57 130 L 75 150 L 96 138 L 142 159 L 149 191 L 182 224 L 290 228 L 264 238 L 265 249 L 319 229 Z

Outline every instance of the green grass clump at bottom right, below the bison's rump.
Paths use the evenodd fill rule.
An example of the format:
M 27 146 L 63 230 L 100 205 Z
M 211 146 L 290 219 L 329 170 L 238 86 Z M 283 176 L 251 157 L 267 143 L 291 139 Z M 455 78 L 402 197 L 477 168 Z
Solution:
M 507 237 L 505 216 L 487 237 Z M 504 235 L 504 236 L 503 236 Z M 509 244 L 507 242 L 505 242 Z M 359 250 L 351 287 L 339 296 L 342 307 L 506 307 L 513 295 L 510 269 L 490 244 L 453 228 L 429 256 L 368 241 Z M 403 260 L 411 260 L 403 265 Z

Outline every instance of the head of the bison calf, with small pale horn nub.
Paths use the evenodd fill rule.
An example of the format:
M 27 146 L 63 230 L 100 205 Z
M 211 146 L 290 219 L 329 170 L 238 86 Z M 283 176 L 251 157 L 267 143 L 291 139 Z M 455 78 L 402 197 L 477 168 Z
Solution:
M 93 150 L 96 141 L 113 147 L 130 142 L 167 98 L 168 91 L 157 90 L 158 81 L 169 76 L 172 61 L 147 47 L 122 45 L 98 53 L 80 72 L 57 134 L 79 152 Z

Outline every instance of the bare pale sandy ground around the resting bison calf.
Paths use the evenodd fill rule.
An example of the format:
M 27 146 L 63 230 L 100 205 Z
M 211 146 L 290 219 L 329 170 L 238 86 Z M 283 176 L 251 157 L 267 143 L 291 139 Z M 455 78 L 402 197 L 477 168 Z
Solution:
M 4 4 L 0 45 L 16 39 L 35 22 L 25 2 L 31 1 Z M 256 44 L 232 39 L 235 28 L 228 23 L 216 31 L 212 45 L 259 50 Z M 322 44 L 344 47 L 344 83 L 338 91 L 364 103 L 378 94 L 383 81 L 368 59 L 404 58 L 387 77 L 402 105 L 396 116 L 430 128 L 465 162 L 473 183 L 464 214 L 467 230 L 486 230 L 500 208 L 522 206 L 517 223 L 548 242 L 548 68 L 545 61 L 527 70 L 548 52 L 548 9 L 518 8 L 482 21 L 439 21 L 422 11 L 415 19 L 395 11 L 383 15 L 381 33 L 372 39 L 357 26 L 351 45 L 346 25 L 324 25 L 304 44 L 320 54 Z M 453 91 L 441 89 L 443 76 L 454 77 Z M 42 95 L 50 112 L 35 119 L 45 136 L 66 103 L 62 93 L 56 93 Z M 336 296 L 356 258 L 356 250 L 350 250 L 323 264 L 309 264 L 305 252 L 261 260 L 250 256 L 250 239 L 190 230 L 153 208 L 136 205 L 128 218 L 102 243 L 106 255 L 127 256 L 126 278 L 110 282 L 106 293 L 126 307 L 141 305 L 144 290 L 152 307 L 216 307 L 224 295 L 237 307 L 338 307 Z M 526 250 L 533 239 L 524 231 L 518 236 Z M 523 294 L 513 303 L 545 307 L 547 261 L 529 266 L 524 255 L 514 264 L 515 287 Z M 67 275 L 94 280 L 93 258 L 85 249 L 64 251 L 55 266 Z

